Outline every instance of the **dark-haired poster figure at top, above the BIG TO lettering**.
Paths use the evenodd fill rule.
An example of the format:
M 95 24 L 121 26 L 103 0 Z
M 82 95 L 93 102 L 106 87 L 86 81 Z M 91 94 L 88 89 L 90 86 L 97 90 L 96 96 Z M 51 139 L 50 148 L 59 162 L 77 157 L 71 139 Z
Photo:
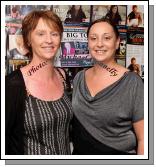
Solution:
M 71 9 L 67 12 L 65 23 L 81 23 L 86 19 L 86 15 L 82 10 L 81 5 L 72 5 Z

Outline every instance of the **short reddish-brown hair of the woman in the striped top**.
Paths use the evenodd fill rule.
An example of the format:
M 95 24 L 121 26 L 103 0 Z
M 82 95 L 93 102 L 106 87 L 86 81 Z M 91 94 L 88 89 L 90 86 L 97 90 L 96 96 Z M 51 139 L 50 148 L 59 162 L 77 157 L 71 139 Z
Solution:
M 42 18 L 49 27 L 54 27 L 59 33 L 60 38 L 63 33 L 63 25 L 60 18 L 52 11 L 32 11 L 28 13 L 22 21 L 22 35 L 24 47 L 29 51 L 29 56 L 32 58 L 32 48 L 30 46 L 30 34 L 36 28 L 39 19 Z

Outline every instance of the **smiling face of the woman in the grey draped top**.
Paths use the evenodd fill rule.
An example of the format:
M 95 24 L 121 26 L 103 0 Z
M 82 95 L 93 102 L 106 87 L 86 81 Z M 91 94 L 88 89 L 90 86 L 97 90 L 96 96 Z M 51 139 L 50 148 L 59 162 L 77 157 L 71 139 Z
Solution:
M 107 22 L 95 23 L 88 34 L 88 47 L 93 58 L 100 62 L 114 61 L 120 39 Z

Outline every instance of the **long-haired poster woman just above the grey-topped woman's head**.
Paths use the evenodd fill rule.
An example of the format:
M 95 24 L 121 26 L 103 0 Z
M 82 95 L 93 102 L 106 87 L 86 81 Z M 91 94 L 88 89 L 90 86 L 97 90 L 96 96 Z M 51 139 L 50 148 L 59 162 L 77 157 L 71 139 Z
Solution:
M 106 14 L 105 18 L 109 19 L 115 25 L 120 25 L 122 19 L 118 12 L 118 6 L 111 5 L 110 11 Z

